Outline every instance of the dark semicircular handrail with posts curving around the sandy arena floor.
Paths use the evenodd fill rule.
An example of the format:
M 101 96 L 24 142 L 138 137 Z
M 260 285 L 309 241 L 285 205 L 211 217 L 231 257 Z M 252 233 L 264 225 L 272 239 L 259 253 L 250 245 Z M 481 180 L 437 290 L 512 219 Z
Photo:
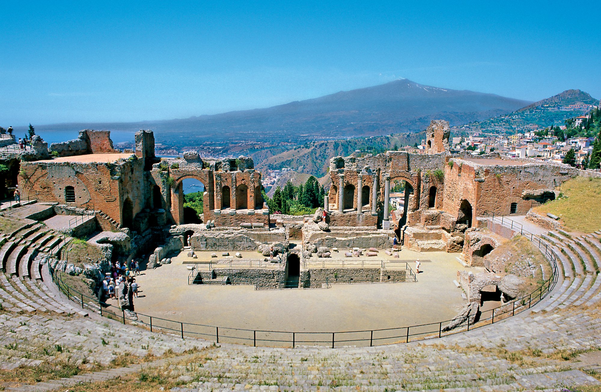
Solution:
M 523 228 L 522 228 L 523 230 Z M 358 342 L 367 342 L 369 341 L 370 346 L 373 346 L 374 342 L 375 343 L 380 343 L 380 344 L 392 344 L 392 343 L 408 343 L 409 341 L 413 341 L 415 339 L 411 339 L 412 337 L 421 337 L 419 338 L 419 340 L 423 340 L 423 339 L 427 339 L 427 338 L 435 338 L 435 337 L 442 337 L 442 336 L 447 336 L 447 335 L 453 335 L 453 334 L 457 334 L 460 332 L 465 332 L 465 331 L 469 331 L 470 329 L 474 329 L 474 328 L 480 328 L 481 326 L 485 326 L 485 325 L 489 325 L 490 323 L 495 323 L 495 322 L 499 322 L 500 316 L 503 315 L 508 315 L 507 317 L 511 317 L 514 316 L 517 313 L 521 313 L 522 311 L 528 310 L 529 308 L 532 307 L 532 305 L 537 304 L 538 302 L 542 301 L 543 298 L 545 298 L 546 295 L 548 295 L 549 292 L 551 292 L 551 290 L 554 289 L 555 285 L 557 284 L 558 281 L 558 268 L 557 268 L 557 259 L 555 258 L 555 255 L 549 251 L 548 246 L 546 245 L 546 243 L 543 243 L 537 236 L 534 236 L 534 234 L 529 233 L 527 231 L 524 231 L 528 234 L 531 234 L 531 241 L 535 244 L 538 245 L 538 248 L 540 250 L 543 251 L 543 246 L 545 245 L 544 248 L 544 254 L 545 256 L 548 258 L 549 261 L 551 261 L 551 265 L 552 265 L 552 274 L 551 277 L 549 277 L 548 280 L 546 280 L 542 286 L 538 287 L 537 289 L 535 289 L 533 292 L 529 293 L 528 295 L 522 296 L 520 298 L 516 298 L 513 301 L 507 302 L 504 305 L 501 305 L 499 307 L 493 308 L 492 310 L 487 310 L 481 313 L 481 317 L 477 322 L 470 322 L 469 317 L 461 322 L 456 328 L 450 329 L 445 331 L 445 329 L 443 328 L 443 325 L 446 325 L 450 322 L 453 322 L 455 319 L 451 319 L 451 320 L 444 320 L 444 321 L 439 321 L 439 322 L 434 322 L 434 323 L 426 323 L 426 324 L 421 324 L 421 325 L 410 325 L 410 326 L 400 326 L 400 327 L 396 327 L 396 328 L 381 328 L 381 329 L 362 329 L 362 330 L 357 330 L 357 331 L 334 331 L 334 332 L 299 332 L 299 331 L 269 331 L 269 330 L 263 330 L 263 329 L 247 329 L 247 328 L 230 328 L 230 327 L 224 327 L 224 326 L 215 326 L 215 325 L 206 325 L 206 324 L 199 324 L 199 323 L 189 323 L 189 322 L 180 322 L 180 321 L 176 321 L 176 320 L 169 320 L 169 319 L 163 319 L 162 317 L 156 317 L 156 316 L 150 316 L 148 314 L 143 314 L 143 313 L 139 313 L 139 312 L 132 312 L 135 314 L 135 318 L 133 317 L 128 317 L 125 313 L 125 310 L 116 307 L 114 305 L 110 305 L 110 304 L 106 304 L 104 302 L 99 301 L 97 298 L 93 298 L 91 296 L 88 295 L 84 295 L 81 292 L 78 292 L 75 289 L 72 289 L 71 287 L 67 286 L 67 284 L 65 284 L 63 282 L 63 280 L 61 279 L 61 277 L 59 276 L 59 274 L 56 274 L 55 269 L 52 267 L 52 265 L 50 263 L 48 263 L 48 267 L 50 270 L 50 275 L 52 276 L 52 281 L 53 283 L 55 283 L 59 290 L 61 290 L 61 292 L 65 293 L 67 295 L 67 297 L 69 299 L 75 298 L 76 301 L 75 302 L 81 302 L 81 306 L 82 308 L 85 308 L 87 306 L 88 309 L 91 309 L 93 311 L 99 311 L 100 315 L 109 315 L 111 313 L 108 312 L 103 312 L 103 306 L 105 306 L 106 308 L 109 309 L 113 309 L 115 310 L 114 313 L 112 313 L 112 315 L 114 315 L 115 317 L 118 317 L 120 320 L 123 320 L 123 323 L 127 323 L 127 320 L 129 320 L 129 322 L 136 322 L 136 325 L 144 325 L 147 326 L 148 328 L 150 328 L 150 331 L 153 332 L 154 330 L 158 330 L 158 331 L 171 331 L 171 332 L 177 332 L 178 335 L 180 335 L 182 338 L 184 338 L 185 334 L 189 335 L 189 336 L 200 336 L 200 337 L 207 337 L 207 338 L 215 338 L 216 343 L 219 343 L 219 338 L 230 338 L 233 341 L 243 341 L 243 342 L 250 342 L 252 341 L 254 346 L 257 346 L 257 342 L 263 342 L 263 343 L 286 343 L 288 346 L 291 346 L 292 348 L 294 348 L 298 343 L 310 343 L 310 344 L 316 344 L 316 343 L 327 343 L 328 346 L 331 346 L 332 348 L 336 347 L 336 343 L 358 343 Z M 534 240 L 537 239 L 538 243 Z M 74 294 L 75 296 L 73 296 L 72 294 Z M 92 302 L 94 304 L 94 306 L 92 306 L 90 304 L 90 302 L 86 303 L 84 301 L 84 298 L 89 300 L 90 302 Z M 484 316 L 484 317 L 483 317 Z M 496 320 L 495 320 L 496 318 Z M 506 317 L 503 317 L 503 319 L 505 319 Z M 145 321 L 146 320 L 146 321 Z M 166 322 L 166 323 L 172 323 L 174 326 L 178 326 L 179 328 L 170 328 L 168 325 L 157 325 L 157 320 L 159 320 L 160 322 Z M 154 323 L 153 323 L 154 321 Z M 188 326 L 188 329 L 186 330 L 184 328 L 184 326 Z M 193 330 L 193 328 L 209 328 L 210 332 L 200 332 L 200 331 L 195 331 Z M 430 327 L 432 329 L 430 329 Z M 219 329 L 222 329 L 222 331 L 230 331 L 229 333 L 226 332 L 226 334 L 219 334 Z M 411 329 L 413 329 L 413 333 L 411 333 Z M 213 333 L 212 331 L 215 331 L 215 333 Z M 239 331 L 239 332 L 248 332 L 247 335 L 242 335 L 242 336 L 233 336 L 233 334 L 236 334 L 236 332 L 231 333 L 231 331 Z M 398 334 L 398 332 L 393 332 L 393 331 L 403 331 L 402 334 Z M 257 332 L 259 334 L 263 334 L 263 338 L 261 338 L 261 336 L 259 336 L 257 338 Z M 374 332 L 376 332 L 376 334 L 382 334 L 383 332 L 391 332 L 392 335 L 386 335 L 386 336 L 375 336 L 374 337 Z M 285 334 L 288 336 L 287 339 L 281 339 L 281 338 L 275 338 L 275 337 L 271 337 L 270 335 L 273 334 Z M 359 336 L 355 336 L 354 338 L 344 338 L 345 335 L 348 334 L 359 334 Z M 328 336 L 328 340 L 298 340 L 297 336 L 302 336 L 302 335 L 325 335 Z M 336 335 L 338 335 L 338 340 L 336 339 Z M 331 336 L 331 339 L 329 338 Z M 365 336 L 365 337 L 364 337 Z M 369 336 L 369 337 L 367 337 Z M 388 342 L 385 342 L 383 340 L 388 340 Z M 266 344 L 267 345 L 267 344 Z M 340 344 L 339 344 L 340 346 Z

